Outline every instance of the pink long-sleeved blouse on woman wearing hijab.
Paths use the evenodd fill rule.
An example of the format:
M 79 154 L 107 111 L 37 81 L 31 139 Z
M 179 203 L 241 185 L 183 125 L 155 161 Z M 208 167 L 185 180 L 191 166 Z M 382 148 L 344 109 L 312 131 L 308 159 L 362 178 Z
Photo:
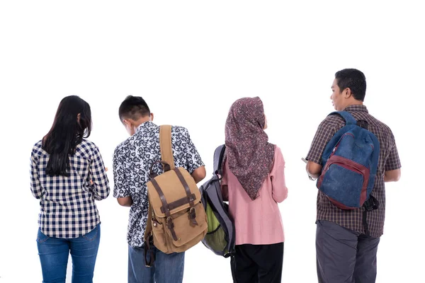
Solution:
M 251 200 L 236 176 L 229 170 L 227 161 L 225 162 L 222 194 L 225 200 L 229 200 L 229 212 L 234 219 L 237 245 L 267 245 L 285 241 L 278 207 L 278 202 L 283 202 L 288 197 L 284 168 L 282 151 L 275 146 L 271 172 L 259 190 L 259 197 Z

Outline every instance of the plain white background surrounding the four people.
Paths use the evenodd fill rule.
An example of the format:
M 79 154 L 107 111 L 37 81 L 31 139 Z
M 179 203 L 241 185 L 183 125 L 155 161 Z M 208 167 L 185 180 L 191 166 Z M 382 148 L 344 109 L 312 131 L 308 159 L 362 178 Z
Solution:
M 78 95 L 91 105 L 90 139 L 112 169 L 113 150 L 128 137 L 118 106 L 129 94 L 147 100 L 157 124 L 189 129 L 207 178 L 229 106 L 260 96 L 266 132 L 286 161 L 283 282 L 317 282 L 317 189 L 300 158 L 333 110 L 330 86 L 344 68 L 364 72 L 365 105 L 391 127 L 402 161 L 402 179 L 386 186 L 377 282 L 425 282 L 419 1 L 283 2 L 1 1 L 0 283 L 42 280 L 29 158 L 60 100 Z M 112 170 L 108 177 L 112 188 Z M 112 193 L 97 204 L 102 236 L 94 281 L 126 282 L 128 208 Z M 229 260 L 202 244 L 186 253 L 184 282 L 231 278 Z

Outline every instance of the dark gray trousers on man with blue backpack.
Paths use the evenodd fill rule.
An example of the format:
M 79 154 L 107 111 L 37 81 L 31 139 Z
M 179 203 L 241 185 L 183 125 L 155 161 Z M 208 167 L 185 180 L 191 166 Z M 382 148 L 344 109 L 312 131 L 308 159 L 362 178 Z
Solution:
M 374 283 L 379 240 L 330 221 L 317 221 L 319 283 Z

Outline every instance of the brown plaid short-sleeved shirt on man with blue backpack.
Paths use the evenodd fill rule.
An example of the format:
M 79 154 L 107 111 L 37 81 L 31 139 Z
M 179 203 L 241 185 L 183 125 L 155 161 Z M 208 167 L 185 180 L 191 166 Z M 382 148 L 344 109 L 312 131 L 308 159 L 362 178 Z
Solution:
M 365 105 L 350 105 L 344 111 L 350 112 L 356 120 L 366 120 L 369 131 L 373 132 L 380 142 L 378 171 L 372 191 L 372 195 L 379 201 L 380 206 L 367 214 L 370 236 L 380 237 L 383 233 L 385 219 L 384 173 L 385 171 L 401 168 L 395 139 L 390 127 L 370 115 Z M 317 128 L 306 159 L 321 164 L 322 154 L 328 141 L 344 125 L 345 121 L 341 116 L 327 116 Z M 320 191 L 317 195 L 317 220 L 331 221 L 352 231 L 365 233 L 362 222 L 362 209 L 339 209 Z

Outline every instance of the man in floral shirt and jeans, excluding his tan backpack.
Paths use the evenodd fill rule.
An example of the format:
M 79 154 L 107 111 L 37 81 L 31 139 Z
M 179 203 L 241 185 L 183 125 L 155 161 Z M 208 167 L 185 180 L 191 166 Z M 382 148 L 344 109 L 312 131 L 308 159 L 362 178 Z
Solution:
M 128 223 L 128 282 L 182 282 L 184 253 L 162 253 L 153 247 L 155 262 L 145 267 L 143 247 L 147 224 L 147 182 L 152 163 L 161 160 L 159 126 L 152 120 L 147 103 L 141 97 L 128 96 L 119 109 L 120 121 L 130 138 L 117 146 L 113 156 L 113 196 L 130 207 Z M 205 166 L 184 127 L 171 128 L 171 144 L 176 167 L 185 168 L 196 183 L 205 178 Z M 157 164 L 154 173 L 162 173 Z M 148 253 L 149 254 L 149 253 Z

